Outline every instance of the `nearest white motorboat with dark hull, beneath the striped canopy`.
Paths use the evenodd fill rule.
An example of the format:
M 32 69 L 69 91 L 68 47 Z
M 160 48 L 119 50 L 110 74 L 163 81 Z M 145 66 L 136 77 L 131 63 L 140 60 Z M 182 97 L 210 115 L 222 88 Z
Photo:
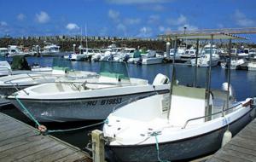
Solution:
M 108 138 L 108 156 L 112 154 L 116 161 L 190 159 L 216 151 L 225 130 L 236 135 L 254 118 L 251 99 L 234 102 L 224 113 L 211 99 L 214 115 L 206 120 L 205 89 L 182 85 L 173 88 L 169 119 L 169 95 L 134 101 L 108 116 L 103 127 Z M 219 97 L 213 91 L 212 94 Z

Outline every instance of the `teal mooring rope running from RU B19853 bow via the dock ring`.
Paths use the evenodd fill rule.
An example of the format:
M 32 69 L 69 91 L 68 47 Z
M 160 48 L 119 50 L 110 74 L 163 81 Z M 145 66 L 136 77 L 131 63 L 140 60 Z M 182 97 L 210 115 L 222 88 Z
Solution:
M 81 127 L 78 127 L 78 128 L 72 128 L 72 129 L 66 129 L 66 130 L 47 130 L 47 128 L 43 124 L 39 124 L 38 120 L 33 117 L 32 113 L 30 113 L 30 111 L 19 100 L 19 98 L 17 98 L 16 95 L 15 95 L 15 99 L 20 104 L 20 107 L 22 107 L 22 109 L 25 110 L 25 112 L 29 115 L 29 117 L 37 124 L 38 130 L 40 130 L 40 132 L 43 135 L 48 135 L 49 133 L 67 132 L 67 131 L 73 131 L 73 130 L 82 130 L 82 129 L 90 128 L 90 127 L 93 127 L 93 126 L 96 126 L 96 125 L 104 124 L 104 123 L 108 124 L 108 119 L 105 119 L 102 122 L 99 122 L 99 123 L 96 123 L 96 124 L 90 124 L 90 125 L 86 125 L 86 126 L 81 126 Z

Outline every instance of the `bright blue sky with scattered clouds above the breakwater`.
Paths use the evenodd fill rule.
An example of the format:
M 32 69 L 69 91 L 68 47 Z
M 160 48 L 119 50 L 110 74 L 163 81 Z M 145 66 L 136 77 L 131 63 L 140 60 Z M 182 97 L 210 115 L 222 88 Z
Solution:
M 255 0 L 0 0 L 0 37 L 155 38 L 205 28 L 256 26 Z

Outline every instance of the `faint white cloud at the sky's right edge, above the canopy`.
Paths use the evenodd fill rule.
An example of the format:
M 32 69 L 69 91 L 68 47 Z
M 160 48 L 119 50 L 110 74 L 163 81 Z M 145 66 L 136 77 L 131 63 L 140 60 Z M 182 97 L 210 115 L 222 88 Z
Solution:
M 240 10 L 236 10 L 234 14 L 237 26 L 254 26 L 255 21 L 247 18 L 246 14 L 243 14 Z

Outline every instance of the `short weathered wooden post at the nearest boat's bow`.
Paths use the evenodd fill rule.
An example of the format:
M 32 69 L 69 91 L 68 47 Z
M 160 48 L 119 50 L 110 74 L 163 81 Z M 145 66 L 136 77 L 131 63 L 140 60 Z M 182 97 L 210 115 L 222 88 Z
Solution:
M 93 130 L 91 132 L 91 142 L 92 142 L 93 161 L 94 162 L 104 162 L 105 161 L 105 149 L 104 149 L 103 132 L 101 130 Z

